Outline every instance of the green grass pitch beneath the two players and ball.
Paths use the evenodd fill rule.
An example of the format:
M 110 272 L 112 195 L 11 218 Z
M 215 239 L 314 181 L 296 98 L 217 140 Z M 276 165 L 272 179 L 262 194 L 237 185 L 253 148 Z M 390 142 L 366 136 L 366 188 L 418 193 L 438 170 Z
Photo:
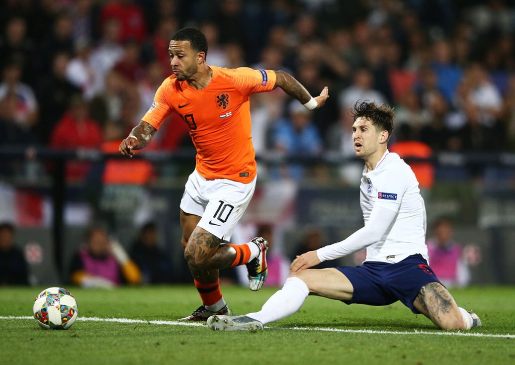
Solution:
M 1 288 L 0 317 L 31 316 L 45 288 Z M 84 317 L 174 321 L 200 304 L 191 286 L 67 287 Z M 483 327 L 467 333 L 515 335 L 515 288 L 454 289 L 458 305 L 473 309 Z M 258 310 L 277 289 L 252 292 L 222 287 L 238 314 Z M 295 326 L 312 330 L 294 329 Z M 317 327 L 357 331 L 322 332 Z M 416 333 L 423 332 L 423 334 Z M 61 364 L 514 364 L 515 338 L 435 336 L 423 316 L 400 303 L 386 307 L 345 305 L 310 297 L 301 310 L 263 332 L 214 332 L 207 327 L 105 321 L 75 322 L 66 331 L 45 331 L 32 319 L 0 319 L 0 363 Z

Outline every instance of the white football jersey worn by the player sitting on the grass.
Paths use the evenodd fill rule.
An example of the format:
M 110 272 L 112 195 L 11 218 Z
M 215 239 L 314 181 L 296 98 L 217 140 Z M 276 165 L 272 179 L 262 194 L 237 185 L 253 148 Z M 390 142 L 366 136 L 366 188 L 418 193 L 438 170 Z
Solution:
M 360 204 L 365 226 L 375 204 L 396 212 L 383 237 L 367 247 L 365 261 L 398 263 L 406 257 L 421 254 L 426 260 L 426 215 L 424 199 L 413 170 L 397 153 L 385 152 L 375 169 L 363 171 Z

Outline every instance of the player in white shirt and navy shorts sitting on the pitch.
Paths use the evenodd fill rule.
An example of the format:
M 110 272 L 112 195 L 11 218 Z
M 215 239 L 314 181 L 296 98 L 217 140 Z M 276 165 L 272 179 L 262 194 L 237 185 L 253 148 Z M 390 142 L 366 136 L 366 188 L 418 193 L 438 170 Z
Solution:
M 457 306 L 428 266 L 424 200 L 411 168 L 387 149 L 395 117 L 392 109 L 357 102 L 353 110 L 356 156 L 365 161 L 360 195 L 365 226 L 343 241 L 306 252 L 290 266 L 283 288 L 263 308 L 246 316 L 212 316 L 208 326 L 225 331 L 263 329 L 294 314 L 308 295 L 346 304 L 388 305 L 401 301 L 442 329 L 480 326 L 474 312 Z M 309 269 L 363 248 L 362 266 Z

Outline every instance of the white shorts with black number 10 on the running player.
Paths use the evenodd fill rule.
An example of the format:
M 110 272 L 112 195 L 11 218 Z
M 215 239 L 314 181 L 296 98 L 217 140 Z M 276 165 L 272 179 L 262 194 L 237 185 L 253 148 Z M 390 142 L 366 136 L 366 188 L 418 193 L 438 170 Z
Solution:
M 181 199 L 184 213 L 199 217 L 198 227 L 229 240 L 254 194 L 256 178 L 248 184 L 227 179 L 204 179 L 197 170 L 186 182 Z

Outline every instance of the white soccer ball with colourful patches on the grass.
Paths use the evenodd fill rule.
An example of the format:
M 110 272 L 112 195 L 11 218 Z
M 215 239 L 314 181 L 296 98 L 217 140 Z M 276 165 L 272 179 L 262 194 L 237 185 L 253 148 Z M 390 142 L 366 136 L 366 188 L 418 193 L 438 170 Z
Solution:
M 77 301 L 66 289 L 52 287 L 38 294 L 32 306 L 34 319 L 45 329 L 67 329 L 77 319 Z

